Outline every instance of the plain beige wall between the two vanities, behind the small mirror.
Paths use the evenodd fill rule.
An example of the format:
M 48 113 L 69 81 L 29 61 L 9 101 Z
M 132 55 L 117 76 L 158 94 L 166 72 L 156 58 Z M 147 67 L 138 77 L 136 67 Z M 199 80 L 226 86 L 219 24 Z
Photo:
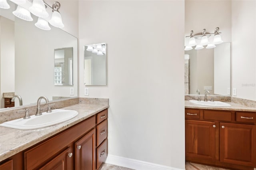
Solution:
M 109 155 L 184 169 L 184 1 L 79 1 L 83 46 L 107 43 Z M 84 96 L 80 62 L 80 97 Z

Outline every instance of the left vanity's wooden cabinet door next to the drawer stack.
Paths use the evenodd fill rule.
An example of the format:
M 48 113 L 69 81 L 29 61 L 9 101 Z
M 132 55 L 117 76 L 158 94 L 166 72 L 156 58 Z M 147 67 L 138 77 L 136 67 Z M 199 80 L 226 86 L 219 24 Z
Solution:
M 95 170 L 95 128 L 75 143 L 75 169 Z

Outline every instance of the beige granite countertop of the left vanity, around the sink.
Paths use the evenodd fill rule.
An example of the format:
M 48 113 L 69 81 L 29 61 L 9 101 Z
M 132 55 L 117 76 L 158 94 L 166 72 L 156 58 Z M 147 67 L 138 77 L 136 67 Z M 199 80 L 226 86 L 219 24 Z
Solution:
M 76 104 L 60 109 L 78 111 L 78 115 L 69 121 L 53 125 L 50 127 L 39 128 L 34 130 L 19 130 L 14 128 L 0 127 L 0 161 L 13 156 L 41 142 L 42 140 L 69 128 L 76 123 L 79 123 L 96 113 L 107 109 L 108 105 L 95 105 L 95 104 Z

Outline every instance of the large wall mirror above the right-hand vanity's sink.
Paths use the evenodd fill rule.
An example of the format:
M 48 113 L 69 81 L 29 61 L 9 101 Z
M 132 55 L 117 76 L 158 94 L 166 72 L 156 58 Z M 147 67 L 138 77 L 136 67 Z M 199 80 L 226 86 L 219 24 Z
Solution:
M 185 95 L 204 94 L 230 96 L 230 43 L 212 49 L 185 51 Z

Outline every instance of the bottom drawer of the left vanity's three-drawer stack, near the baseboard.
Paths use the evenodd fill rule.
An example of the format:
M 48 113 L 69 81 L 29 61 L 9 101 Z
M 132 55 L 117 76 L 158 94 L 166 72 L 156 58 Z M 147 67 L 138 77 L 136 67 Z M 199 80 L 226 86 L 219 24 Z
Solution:
M 106 160 L 108 155 L 108 140 L 105 139 L 104 142 L 97 148 L 97 170 L 100 168 L 101 164 Z

